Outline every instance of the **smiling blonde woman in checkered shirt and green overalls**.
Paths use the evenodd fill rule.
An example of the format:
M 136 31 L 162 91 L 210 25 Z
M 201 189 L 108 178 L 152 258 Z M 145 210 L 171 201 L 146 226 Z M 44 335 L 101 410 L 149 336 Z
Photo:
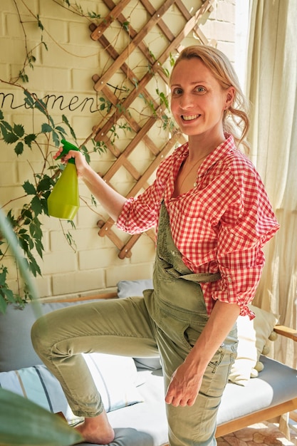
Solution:
M 60 380 L 73 413 L 85 417 L 77 428 L 88 442 L 114 437 L 79 354 L 96 351 L 160 354 L 170 445 L 217 444 L 236 318 L 254 317 L 247 305 L 264 265 L 262 247 L 278 229 L 261 179 L 237 147 L 249 118 L 226 56 L 207 46 L 185 48 L 170 88 L 172 115 L 189 140 L 162 162 L 140 197 L 115 192 L 80 152 L 64 159 L 75 157 L 78 175 L 120 229 L 157 227 L 154 290 L 56 311 L 33 327 L 36 351 Z

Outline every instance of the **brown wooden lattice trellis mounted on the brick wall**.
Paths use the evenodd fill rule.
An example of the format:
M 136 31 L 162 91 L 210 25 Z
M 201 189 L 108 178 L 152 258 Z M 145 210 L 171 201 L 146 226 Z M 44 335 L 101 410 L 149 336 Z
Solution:
M 189 33 L 195 33 L 199 39 L 199 43 L 210 43 L 199 28 L 199 23 L 205 14 L 212 11 L 214 0 L 195 0 L 194 4 L 197 4 L 197 11 L 194 11 L 194 13 L 193 11 L 188 11 L 183 0 L 165 0 L 157 10 L 152 6 L 152 3 L 150 3 L 149 0 L 140 0 L 138 1 L 138 4 L 142 5 L 148 19 L 139 31 L 136 31 L 135 28 L 133 28 L 133 23 L 130 22 L 129 17 L 125 16 L 125 8 L 131 6 L 132 3 L 135 4 L 135 1 L 120 0 L 118 4 L 115 4 L 113 0 L 103 0 L 103 3 L 108 7 L 110 12 L 105 16 L 99 26 L 95 26 L 95 24 L 90 25 L 91 38 L 98 41 L 113 63 L 101 74 L 101 76 L 95 74 L 93 76 L 93 82 L 95 90 L 105 96 L 106 100 L 113 105 L 113 110 L 108 115 L 108 120 L 105 120 L 104 125 L 101 127 L 99 124 L 95 129 L 95 140 L 103 141 L 105 146 L 108 147 L 108 150 L 110 150 L 116 158 L 112 167 L 110 167 L 108 172 L 103 175 L 103 179 L 109 183 L 120 167 L 125 167 L 127 172 L 129 172 L 135 179 L 135 184 L 127 195 L 131 197 L 135 196 L 140 190 L 145 189 L 148 186 L 147 181 L 157 169 L 162 158 L 172 150 L 172 147 L 174 147 L 177 142 L 183 143 L 184 137 L 180 133 L 172 133 L 171 138 L 168 138 L 165 145 L 159 147 L 147 134 L 152 126 L 155 125 L 156 116 L 152 115 L 145 120 L 144 125 L 140 125 L 140 122 L 137 122 L 135 118 L 132 118 L 129 108 L 133 101 L 135 101 L 141 94 L 142 98 L 145 98 L 146 103 L 152 104 L 154 109 L 158 110 L 159 114 L 166 113 L 165 104 L 162 103 L 162 105 L 160 105 L 160 103 L 157 103 L 157 101 L 152 98 L 152 95 L 147 90 L 147 84 L 156 75 L 160 76 L 165 85 L 168 84 L 168 76 L 163 69 L 163 65 L 170 58 L 172 53 L 179 53 L 179 51 L 181 51 L 181 43 Z M 173 31 L 171 31 L 170 26 L 166 24 L 167 14 L 169 14 L 172 9 L 174 9 L 175 14 L 181 16 L 183 21 L 182 28 L 180 28 L 175 35 Z M 104 35 L 110 25 L 115 23 L 120 24 L 120 26 L 125 29 L 129 39 L 128 45 L 121 53 L 118 53 L 115 46 L 113 46 Z M 155 27 L 158 28 L 158 32 L 161 34 L 160 38 L 165 38 L 167 40 L 165 51 L 161 51 L 157 56 L 155 54 L 152 55 L 147 43 L 145 43 L 145 38 L 147 38 L 149 33 Z M 142 65 L 146 64 L 146 66 L 149 67 L 142 78 L 137 78 L 136 73 L 129 66 L 130 56 L 136 49 L 142 55 Z M 130 81 L 130 85 L 134 85 L 134 87 L 129 90 L 129 94 L 126 95 L 125 99 L 120 102 L 120 107 L 118 106 L 119 98 L 115 94 L 115 88 L 109 83 L 110 78 L 112 78 L 118 71 L 125 75 L 127 81 Z M 133 138 L 127 144 L 125 150 L 122 151 L 116 147 L 115 142 L 110 142 L 110 138 L 108 138 L 108 133 L 110 133 L 110 130 L 120 118 L 125 118 L 125 121 L 135 133 L 135 138 Z M 129 155 L 137 148 L 137 145 L 140 142 L 145 143 L 146 147 L 148 147 L 152 155 L 155 157 L 142 174 L 137 171 L 135 166 L 133 166 L 128 159 Z M 100 220 L 98 222 L 98 227 L 100 228 L 98 234 L 101 237 L 108 236 L 115 246 L 118 247 L 118 256 L 120 259 L 130 257 L 132 254 L 131 249 L 141 234 L 132 235 L 126 242 L 123 242 L 113 231 L 113 224 L 114 221 L 111 218 L 109 218 L 107 222 Z M 155 232 L 153 230 L 149 230 L 145 234 L 155 241 Z

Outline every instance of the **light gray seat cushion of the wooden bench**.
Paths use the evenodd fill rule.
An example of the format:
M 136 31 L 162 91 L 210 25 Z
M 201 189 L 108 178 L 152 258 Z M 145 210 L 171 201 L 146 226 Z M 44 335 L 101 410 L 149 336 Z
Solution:
M 219 407 L 218 425 L 297 397 L 297 371 L 264 356 L 261 356 L 261 361 L 264 362 L 264 370 L 259 378 L 251 378 L 249 385 L 226 385 Z M 138 389 L 145 401 L 108 413 L 115 427 L 115 440 L 110 446 L 160 446 L 168 441 L 162 370 L 139 373 L 143 374 L 145 384 Z M 137 432 L 141 434 L 138 438 Z

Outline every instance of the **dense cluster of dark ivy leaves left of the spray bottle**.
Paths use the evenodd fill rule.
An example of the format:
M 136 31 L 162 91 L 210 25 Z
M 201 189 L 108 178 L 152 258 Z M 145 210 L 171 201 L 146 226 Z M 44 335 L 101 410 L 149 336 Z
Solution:
M 66 116 L 63 116 L 63 125 L 56 124 L 53 122 L 53 118 L 48 115 L 46 105 L 42 100 L 34 98 L 28 90 L 24 90 L 24 95 L 28 108 L 42 113 L 45 122 L 38 132 L 26 133 L 24 125 L 19 123 L 11 125 L 0 110 L 0 136 L 7 145 L 7 149 L 14 150 L 17 157 L 24 155 L 26 150 L 36 152 L 38 155 L 42 154 L 43 157 L 41 172 L 33 172 L 32 177 L 22 185 L 24 193 L 20 198 L 24 204 L 21 209 L 17 209 L 17 212 L 9 209 L 6 213 L 6 219 L 14 229 L 19 245 L 24 252 L 27 268 L 36 277 L 41 275 L 36 257 L 42 259 L 44 251 L 40 217 L 41 214 L 48 214 L 47 198 L 61 173 L 61 167 L 51 165 L 49 159 L 51 147 L 58 147 L 61 138 L 65 138 L 68 131 L 73 138 L 75 138 L 75 134 Z M 46 148 L 44 149 L 44 147 Z M 82 150 L 86 151 L 86 148 L 82 147 Z M 7 209 L 9 204 L 12 204 L 11 200 L 2 204 L 3 209 Z M 8 256 L 10 256 L 9 244 L 0 234 L 0 312 L 2 313 L 9 303 L 24 304 L 28 299 L 31 299 L 31 293 L 26 289 L 26 286 L 24 289 L 19 286 L 17 293 L 9 288 L 9 269 L 5 265 L 5 259 Z M 17 265 L 16 268 L 18 268 Z

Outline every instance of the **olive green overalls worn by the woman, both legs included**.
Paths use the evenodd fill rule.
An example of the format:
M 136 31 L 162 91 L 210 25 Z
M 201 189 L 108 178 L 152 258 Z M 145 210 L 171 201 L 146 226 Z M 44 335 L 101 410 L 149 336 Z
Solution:
M 208 320 L 199 282 L 217 279 L 219 274 L 193 274 L 184 265 L 162 204 L 153 290 L 144 291 L 144 297 L 63 308 L 39 318 L 32 328 L 33 346 L 60 381 L 73 413 L 94 417 L 103 410 L 100 395 L 79 353 L 132 357 L 160 353 L 166 389 L 172 373 L 187 357 Z M 217 410 L 235 351 L 236 328 L 207 366 L 194 405 L 167 405 L 171 446 L 217 444 Z

